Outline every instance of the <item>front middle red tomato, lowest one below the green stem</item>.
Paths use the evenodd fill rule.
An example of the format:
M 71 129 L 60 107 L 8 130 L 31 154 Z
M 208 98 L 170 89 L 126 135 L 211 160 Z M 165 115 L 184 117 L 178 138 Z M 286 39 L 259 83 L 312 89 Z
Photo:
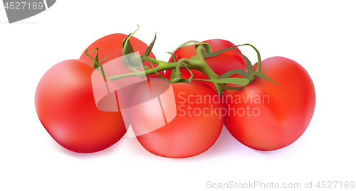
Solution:
M 150 80 L 132 95 L 131 126 L 150 153 L 192 157 L 209 149 L 219 137 L 224 125 L 222 107 L 218 94 L 206 84 Z

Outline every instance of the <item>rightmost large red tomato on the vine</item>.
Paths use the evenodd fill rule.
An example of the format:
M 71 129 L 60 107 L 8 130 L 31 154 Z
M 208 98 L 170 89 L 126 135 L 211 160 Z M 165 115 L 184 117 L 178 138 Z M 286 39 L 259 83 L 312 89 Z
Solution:
M 244 89 L 224 90 L 225 126 L 244 145 L 272 151 L 290 145 L 307 129 L 315 89 L 308 72 L 288 58 L 263 60 L 261 72 L 279 85 L 256 78 Z

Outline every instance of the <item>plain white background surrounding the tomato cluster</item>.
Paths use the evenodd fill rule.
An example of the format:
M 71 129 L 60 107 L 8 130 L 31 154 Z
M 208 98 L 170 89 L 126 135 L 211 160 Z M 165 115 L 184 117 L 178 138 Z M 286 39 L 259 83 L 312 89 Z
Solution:
M 12 24 L 1 7 L 0 190 L 218 190 L 207 181 L 297 182 L 304 190 L 305 181 L 356 181 L 355 18 L 354 1 L 61 0 Z M 255 45 L 262 59 L 299 62 L 317 94 L 308 129 L 272 152 L 247 148 L 224 129 L 208 151 L 186 159 L 152 155 L 129 138 L 93 154 L 62 148 L 36 115 L 38 81 L 98 38 L 137 24 L 135 37 L 147 44 L 157 33 L 160 60 L 187 40 L 222 38 Z M 256 62 L 250 48 L 241 50 Z

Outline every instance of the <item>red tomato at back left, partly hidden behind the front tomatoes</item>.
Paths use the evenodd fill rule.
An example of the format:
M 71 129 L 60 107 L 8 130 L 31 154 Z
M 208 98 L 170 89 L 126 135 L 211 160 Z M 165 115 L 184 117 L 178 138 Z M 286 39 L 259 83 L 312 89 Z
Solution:
M 104 36 L 103 38 L 100 38 L 96 40 L 94 43 L 92 43 L 88 48 L 85 48 L 85 50 L 88 51 L 88 55 L 90 55 L 92 58 L 94 58 L 95 53 L 92 51 L 95 48 L 99 48 L 99 55 L 98 58 L 99 60 L 103 60 L 106 58 L 107 55 L 109 55 L 108 59 L 103 60 L 100 62 L 100 65 L 104 65 L 106 62 L 109 62 L 112 59 L 119 58 L 122 56 L 122 41 L 127 37 L 125 34 L 121 33 L 115 33 L 111 34 L 108 36 Z M 135 52 L 140 52 L 140 55 L 143 55 L 148 46 L 142 42 L 141 40 L 131 36 L 130 38 L 130 43 L 132 45 L 132 48 L 134 49 Z M 151 52 L 149 55 L 150 58 L 155 58 L 155 55 Z M 80 60 L 84 60 L 85 62 L 88 62 L 91 64 L 93 60 L 89 58 L 87 55 L 85 55 L 85 51 L 82 53 L 82 55 L 79 58 Z M 150 62 L 143 62 L 143 65 L 147 65 L 148 67 L 151 68 Z M 156 66 L 155 64 L 152 63 L 152 65 Z M 122 65 L 122 67 L 126 67 L 125 65 Z M 125 68 L 126 69 L 126 68 Z M 164 72 L 159 72 L 160 75 L 164 75 Z M 118 74 L 117 74 L 118 75 Z M 155 78 L 158 77 L 156 74 L 149 75 L 147 78 Z

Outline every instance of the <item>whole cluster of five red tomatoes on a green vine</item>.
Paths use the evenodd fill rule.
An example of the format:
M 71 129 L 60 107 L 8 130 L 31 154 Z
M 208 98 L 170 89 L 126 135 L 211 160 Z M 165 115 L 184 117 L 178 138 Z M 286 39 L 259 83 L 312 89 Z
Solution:
M 131 126 L 150 153 L 187 158 L 213 146 L 224 125 L 259 151 L 288 146 L 308 127 L 315 89 L 298 62 L 273 57 L 252 66 L 221 39 L 185 43 L 164 62 L 155 59 L 154 43 L 112 34 L 78 60 L 51 67 L 38 83 L 35 105 L 53 139 L 70 151 L 93 153 Z

